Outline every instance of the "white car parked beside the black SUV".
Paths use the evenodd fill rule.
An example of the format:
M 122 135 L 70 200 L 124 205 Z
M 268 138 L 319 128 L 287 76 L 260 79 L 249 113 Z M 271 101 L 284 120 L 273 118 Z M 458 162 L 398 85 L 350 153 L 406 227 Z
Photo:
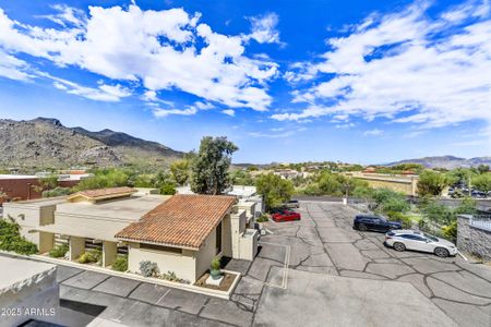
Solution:
M 395 251 L 416 250 L 434 253 L 440 257 L 457 255 L 457 247 L 447 240 L 418 230 L 393 230 L 385 234 L 385 244 Z

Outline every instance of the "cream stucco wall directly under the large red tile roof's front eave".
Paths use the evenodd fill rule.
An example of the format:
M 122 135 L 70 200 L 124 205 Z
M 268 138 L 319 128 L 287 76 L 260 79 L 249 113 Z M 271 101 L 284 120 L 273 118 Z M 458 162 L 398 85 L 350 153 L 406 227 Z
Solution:
M 179 278 L 191 282 L 196 280 L 196 252 L 182 250 L 182 254 L 157 250 L 140 249 L 140 243 L 128 245 L 128 268 L 140 272 L 140 262 L 156 263 L 160 272 L 173 271 Z

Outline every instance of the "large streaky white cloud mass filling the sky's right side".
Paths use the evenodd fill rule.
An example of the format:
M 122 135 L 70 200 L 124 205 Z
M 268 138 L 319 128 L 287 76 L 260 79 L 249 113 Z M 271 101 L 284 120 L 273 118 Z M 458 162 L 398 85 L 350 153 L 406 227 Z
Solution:
M 294 93 L 294 101 L 308 107 L 273 119 L 383 117 L 424 128 L 491 121 L 489 1 L 466 2 L 435 20 L 426 2 L 417 2 L 403 12 L 370 15 L 327 44 L 331 50 L 319 63 L 298 63 L 286 75 L 314 82 Z

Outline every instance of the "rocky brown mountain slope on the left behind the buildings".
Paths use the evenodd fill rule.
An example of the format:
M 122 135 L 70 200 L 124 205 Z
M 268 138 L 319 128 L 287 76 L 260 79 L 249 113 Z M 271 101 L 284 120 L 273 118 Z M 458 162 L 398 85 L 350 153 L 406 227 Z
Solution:
M 125 133 L 67 128 L 52 118 L 0 120 L 0 167 L 70 168 L 135 165 L 158 167 L 183 156 Z

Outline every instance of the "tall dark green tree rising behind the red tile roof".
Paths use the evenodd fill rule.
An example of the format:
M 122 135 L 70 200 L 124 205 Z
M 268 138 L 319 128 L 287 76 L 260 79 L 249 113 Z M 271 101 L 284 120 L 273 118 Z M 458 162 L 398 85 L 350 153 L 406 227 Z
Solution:
M 231 155 L 239 148 L 227 137 L 205 136 L 191 165 L 191 190 L 199 194 L 220 194 L 230 184 Z

